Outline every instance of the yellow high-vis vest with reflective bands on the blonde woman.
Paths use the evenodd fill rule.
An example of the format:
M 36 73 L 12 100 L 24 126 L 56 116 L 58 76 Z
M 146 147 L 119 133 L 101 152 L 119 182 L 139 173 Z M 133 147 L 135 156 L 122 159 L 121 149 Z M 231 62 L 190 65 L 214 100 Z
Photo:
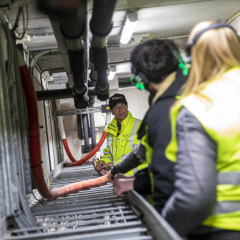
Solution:
M 205 96 L 205 97 L 203 97 Z M 240 68 L 232 68 L 171 111 L 172 139 L 166 157 L 176 161 L 176 121 L 186 107 L 217 144 L 217 201 L 203 225 L 240 231 Z

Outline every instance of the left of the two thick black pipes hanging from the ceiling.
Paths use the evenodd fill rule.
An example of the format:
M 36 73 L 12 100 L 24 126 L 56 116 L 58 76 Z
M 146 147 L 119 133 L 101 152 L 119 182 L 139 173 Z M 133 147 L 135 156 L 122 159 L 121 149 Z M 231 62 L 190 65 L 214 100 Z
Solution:
M 74 81 L 74 91 L 76 94 L 83 96 L 87 92 L 84 85 L 84 51 L 81 43 L 81 36 L 84 32 L 84 18 L 86 15 L 85 1 L 74 1 L 74 3 L 68 4 L 67 1 L 44 0 L 43 3 L 39 5 L 52 19 L 57 19 L 60 23 L 61 33 L 58 33 L 56 38 L 59 43 L 61 42 L 64 45 L 64 52 L 66 48 L 68 50 L 69 64 Z M 56 10 L 52 9 L 53 6 L 56 7 Z M 64 36 L 65 39 L 62 39 L 62 36 Z M 63 51 L 61 51 L 61 53 L 63 54 Z M 64 54 L 66 54 L 66 52 Z

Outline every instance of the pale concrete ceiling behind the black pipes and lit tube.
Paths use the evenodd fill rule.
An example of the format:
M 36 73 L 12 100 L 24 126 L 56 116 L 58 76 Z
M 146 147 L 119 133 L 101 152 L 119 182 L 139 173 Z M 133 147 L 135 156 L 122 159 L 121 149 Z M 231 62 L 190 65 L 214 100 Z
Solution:
M 92 0 L 89 1 L 91 19 Z M 57 48 L 55 37 L 48 17 L 36 8 L 36 1 L 28 5 L 29 24 L 27 33 L 32 37 L 26 43 L 29 51 Z M 138 12 L 138 25 L 133 34 L 135 44 L 149 38 L 173 38 L 180 48 L 184 48 L 186 36 L 193 26 L 203 20 L 222 19 L 227 21 L 240 10 L 239 0 L 119 0 L 113 16 L 113 30 L 108 37 L 110 45 L 118 45 L 122 25 L 127 11 Z M 11 24 L 14 24 L 17 10 L 5 12 Z M 19 23 L 22 32 L 22 19 Z M 91 36 L 91 35 L 90 35 Z M 128 60 L 132 46 L 109 47 L 109 62 Z M 34 52 L 33 52 L 34 55 Z M 38 61 L 40 69 L 62 67 L 59 55 Z M 127 68 L 129 69 L 129 67 Z M 121 78 L 126 73 L 119 72 Z

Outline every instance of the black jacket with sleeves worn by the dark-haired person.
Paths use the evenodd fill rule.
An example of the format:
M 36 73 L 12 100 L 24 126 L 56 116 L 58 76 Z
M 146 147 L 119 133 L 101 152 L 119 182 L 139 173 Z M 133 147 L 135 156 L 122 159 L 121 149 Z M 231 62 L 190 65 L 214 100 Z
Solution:
M 170 108 L 185 82 L 186 77 L 179 69 L 173 83 L 149 108 L 138 130 L 138 138 L 141 139 L 146 134 L 145 127 L 148 126 L 149 145 L 153 149 L 149 171 L 154 175 L 154 192 L 152 194 L 154 206 L 159 213 L 161 213 L 174 188 L 173 162 L 165 157 L 165 149 L 171 140 Z M 119 166 L 116 165 L 112 169 L 112 173 L 125 173 L 128 170 L 126 166 L 136 167 L 134 164 L 140 164 L 141 158 L 143 158 L 139 155 L 142 154 L 137 154 L 136 151 L 130 153 L 121 165 L 118 164 Z M 140 194 L 148 195 L 150 193 L 151 185 L 148 171 L 143 170 L 136 174 L 134 189 Z

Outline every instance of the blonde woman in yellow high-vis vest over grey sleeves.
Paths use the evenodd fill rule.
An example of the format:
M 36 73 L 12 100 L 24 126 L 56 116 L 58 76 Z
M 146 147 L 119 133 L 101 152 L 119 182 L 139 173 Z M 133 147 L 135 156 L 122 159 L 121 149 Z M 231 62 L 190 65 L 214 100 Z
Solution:
M 171 110 L 175 190 L 162 216 L 189 240 L 240 239 L 240 42 L 222 22 L 189 37 L 191 72 Z

